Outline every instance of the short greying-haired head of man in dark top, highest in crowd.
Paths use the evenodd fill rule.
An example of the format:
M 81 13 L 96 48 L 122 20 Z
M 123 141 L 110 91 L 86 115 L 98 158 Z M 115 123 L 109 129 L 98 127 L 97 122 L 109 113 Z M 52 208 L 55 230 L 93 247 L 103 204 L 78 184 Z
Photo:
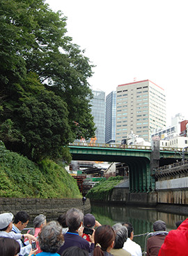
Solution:
M 84 218 L 84 214 L 77 208 L 71 208 L 66 213 L 66 223 L 70 231 L 79 229 Z

